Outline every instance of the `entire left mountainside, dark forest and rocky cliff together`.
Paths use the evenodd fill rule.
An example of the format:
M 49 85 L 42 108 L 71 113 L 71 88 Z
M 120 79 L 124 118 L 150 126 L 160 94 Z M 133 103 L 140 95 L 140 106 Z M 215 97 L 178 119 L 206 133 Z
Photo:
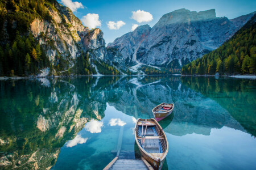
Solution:
M 45 68 L 49 73 L 40 76 L 96 74 L 90 58 L 105 48 L 103 33 L 84 27 L 68 7 L 56 0 L 0 0 L 0 18 L 0 76 L 38 75 Z M 119 74 L 115 67 L 104 74 L 113 71 Z

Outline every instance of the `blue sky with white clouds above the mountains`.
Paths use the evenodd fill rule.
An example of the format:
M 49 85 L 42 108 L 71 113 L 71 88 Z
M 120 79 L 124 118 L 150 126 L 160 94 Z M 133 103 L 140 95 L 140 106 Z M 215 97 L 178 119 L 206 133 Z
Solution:
M 130 32 L 133 24 L 154 26 L 162 15 L 186 8 L 190 11 L 216 10 L 216 16 L 229 19 L 256 11 L 256 1 L 249 0 L 57 0 L 71 8 L 85 26 L 98 27 L 104 32 L 106 45 Z M 134 15 L 133 15 L 134 11 Z M 132 18 L 133 16 L 133 18 Z M 110 22 L 110 23 L 109 23 Z M 86 25 L 85 23 L 88 23 Z M 99 26 L 100 25 L 100 26 Z M 108 27 L 109 25 L 109 27 Z M 111 28 L 111 29 L 110 29 Z

